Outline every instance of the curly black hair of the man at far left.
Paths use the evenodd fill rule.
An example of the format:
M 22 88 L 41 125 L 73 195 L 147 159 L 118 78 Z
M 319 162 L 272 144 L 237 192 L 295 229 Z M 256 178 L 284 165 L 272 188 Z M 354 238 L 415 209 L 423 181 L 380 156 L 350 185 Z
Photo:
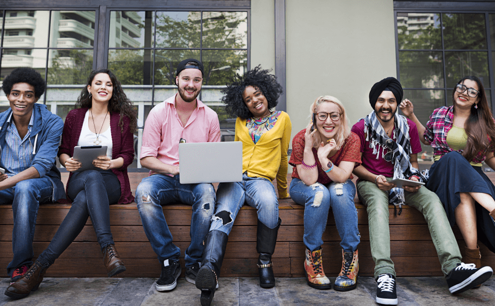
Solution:
M 21 67 L 12 70 L 11 74 L 4 79 L 4 83 L 2 84 L 2 89 L 4 90 L 5 95 L 9 95 L 12 90 L 12 86 L 17 83 L 28 83 L 33 86 L 34 96 L 37 99 L 40 98 L 46 89 L 45 79 L 33 68 Z

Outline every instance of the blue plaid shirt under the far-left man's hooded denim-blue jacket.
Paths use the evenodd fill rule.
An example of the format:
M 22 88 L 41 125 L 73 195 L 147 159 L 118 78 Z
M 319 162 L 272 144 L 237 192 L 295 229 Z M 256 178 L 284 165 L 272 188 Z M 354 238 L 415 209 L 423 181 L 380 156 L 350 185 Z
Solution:
M 33 128 L 34 112 L 31 115 L 28 133 L 24 136 L 24 139 L 21 139 L 19 132 L 17 132 L 16 124 L 12 120 L 12 114 L 7 121 L 10 122 L 5 135 L 7 145 L 2 148 L 0 161 L 5 168 L 5 174 L 10 177 L 26 170 L 33 164 L 33 144 L 29 137 Z

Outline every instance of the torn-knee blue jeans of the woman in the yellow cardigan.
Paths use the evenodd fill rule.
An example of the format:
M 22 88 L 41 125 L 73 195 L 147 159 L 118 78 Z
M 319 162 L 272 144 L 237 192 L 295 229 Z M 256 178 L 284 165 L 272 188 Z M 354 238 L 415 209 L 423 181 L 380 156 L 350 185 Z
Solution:
M 274 229 L 278 224 L 278 199 L 275 187 L 266 178 L 242 174 L 242 181 L 220 183 L 217 190 L 215 215 L 210 231 L 229 234 L 235 217 L 244 202 L 258 210 L 258 220 Z

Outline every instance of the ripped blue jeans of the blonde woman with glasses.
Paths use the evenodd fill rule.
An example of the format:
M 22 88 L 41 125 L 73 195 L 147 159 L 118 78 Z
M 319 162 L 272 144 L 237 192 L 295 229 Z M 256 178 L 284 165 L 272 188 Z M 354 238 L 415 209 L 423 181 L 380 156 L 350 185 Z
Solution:
M 358 249 L 360 235 L 358 213 L 354 205 L 356 186 L 348 179 L 345 183 L 314 183 L 310 186 L 298 178 L 293 178 L 289 193 L 299 205 L 304 205 L 304 244 L 312 252 L 322 244 L 328 209 L 332 207 L 337 231 L 341 237 L 344 252 Z

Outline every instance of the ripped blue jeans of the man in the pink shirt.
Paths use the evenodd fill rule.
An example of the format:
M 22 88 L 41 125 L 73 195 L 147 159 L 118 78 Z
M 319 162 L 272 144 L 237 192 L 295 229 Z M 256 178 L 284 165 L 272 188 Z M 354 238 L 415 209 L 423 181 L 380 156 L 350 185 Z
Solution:
M 215 210 L 215 188 L 212 184 L 181 184 L 179 175 L 153 174 L 137 186 L 135 201 L 146 237 L 160 262 L 169 258 L 179 260 L 181 256 L 181 250 L 172 242 L 161 206 L 176 201 L 192 205 L 191 244 L 186 250 L 186 267 L 201 262 L 203 240 Z

